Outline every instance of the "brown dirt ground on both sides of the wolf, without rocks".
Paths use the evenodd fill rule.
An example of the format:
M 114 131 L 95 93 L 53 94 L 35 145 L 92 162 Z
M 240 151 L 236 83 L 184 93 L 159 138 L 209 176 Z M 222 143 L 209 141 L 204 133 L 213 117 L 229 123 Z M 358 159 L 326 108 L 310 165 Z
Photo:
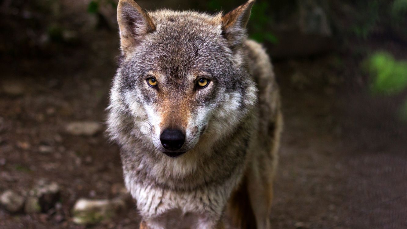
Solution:
M 0 192 L 46 179 L 61 185 L 62 203 L 43 214 L 0 209 L 2 229 L 84 228 L 72 222 L 75 201 L 111 198 L 123 183 L 118 147 L 103 132 L 65 131 L 69 122 L 106 117 L 118 40 L 106 31 L 89 39 L 43 57 L 2 57 L 1 83 L 23 92 L 0 92 Z M 367 45 L 376 42 L 407 55 L 396 41 Z M 395 118 L 402 97 L 372 97 L 359 61 L 346 50 L 274 61 L 284 111 L 274 228 L 407 228 L 407 127 Z M 91 228 L 138 228 L 138 220 L 133 207 Z

